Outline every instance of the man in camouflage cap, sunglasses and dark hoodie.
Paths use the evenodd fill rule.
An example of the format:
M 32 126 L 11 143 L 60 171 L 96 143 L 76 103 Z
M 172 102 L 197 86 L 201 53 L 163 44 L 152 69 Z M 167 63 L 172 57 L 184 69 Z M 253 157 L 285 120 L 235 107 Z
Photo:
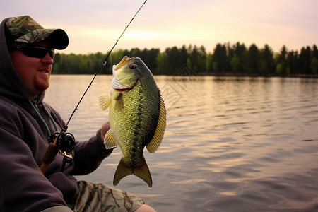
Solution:
M 54 49 L 68 44 L 64 30 L 44 29 L 30 16 L 0 25 L 0 211 L 154 211 L 134 194 L 72 176 L 93 172 L 112 153 L 102 142 L 108 122 L 88 141 L 76 142 L 73 163 L 63 172 L 57 154 L 42 174 L 48 138 L 64 126 L 42 100 Z

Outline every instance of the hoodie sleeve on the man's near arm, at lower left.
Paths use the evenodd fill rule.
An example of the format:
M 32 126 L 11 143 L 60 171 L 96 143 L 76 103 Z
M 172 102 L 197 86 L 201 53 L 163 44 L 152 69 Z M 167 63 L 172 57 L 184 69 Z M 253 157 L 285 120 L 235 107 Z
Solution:
M 42 211 L 66 206 L 63 194 L 42 175 L 22 134 L 20 122 L 1 112 L 0 211 Z

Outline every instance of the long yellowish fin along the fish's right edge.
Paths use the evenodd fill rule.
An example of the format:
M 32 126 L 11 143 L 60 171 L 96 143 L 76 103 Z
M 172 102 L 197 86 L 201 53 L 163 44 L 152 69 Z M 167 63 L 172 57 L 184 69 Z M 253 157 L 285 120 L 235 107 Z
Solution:
M 159 89 L 158 89 L 159 90 Z M 160 112 L 159 112 L 159 120 L 157 124 L 157 128 L 155 129 L 155 134 L 153 135 L 153 139 L 146 145 L 146 148 L 149 153 L 154 153 L 160 146 L 161 141 L 163 140 L 163 135 L 165 134 L 165 125 L 167 122 L 167 110 L 165 109 L 165 102 L 163 101 L 163 97 L 161 96 L 159 90 L 160 97 Z

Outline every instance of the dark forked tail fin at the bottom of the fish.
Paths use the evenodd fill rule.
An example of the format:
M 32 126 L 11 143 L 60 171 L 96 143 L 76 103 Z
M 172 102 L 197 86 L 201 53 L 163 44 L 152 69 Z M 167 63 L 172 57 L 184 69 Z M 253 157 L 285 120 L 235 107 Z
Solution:
M 150 188 L 153 186 L 153 179 L 151 177 L 151 172 L 148 168 L 145 158 L 143 158 L 143 164 L 139 167 L 126 166 L 124 165 L 124 162 L 121 159 L 114 174 L 114 186 L 117 186 L 119 181 L 128 175 L 135 175 L 143 179 L 143 181 L 145 181 L 148 184 L 148 187 Z

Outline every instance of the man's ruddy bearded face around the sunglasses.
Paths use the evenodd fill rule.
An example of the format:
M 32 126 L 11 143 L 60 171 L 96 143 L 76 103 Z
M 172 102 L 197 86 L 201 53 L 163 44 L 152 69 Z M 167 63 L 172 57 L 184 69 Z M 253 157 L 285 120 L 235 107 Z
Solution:
M 49 47 L 45 40 L 33 45 Z M 43 58 L 28 57 L 21 49 L 10 52 L 11 61 L 18 75 L 22 79 L 32 98 L 49 88 L 49 76 L 51 76 L 53 59 L 46 54 Z

